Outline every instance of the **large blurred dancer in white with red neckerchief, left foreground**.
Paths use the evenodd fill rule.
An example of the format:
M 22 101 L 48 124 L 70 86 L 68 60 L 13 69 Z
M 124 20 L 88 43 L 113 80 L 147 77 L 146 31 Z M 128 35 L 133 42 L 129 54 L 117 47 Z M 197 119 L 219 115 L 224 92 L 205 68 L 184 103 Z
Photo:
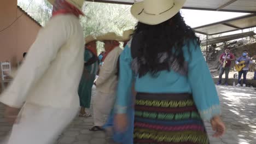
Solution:
M 7 105 L 5 118 L 14 123 L 9 139 L 0 143 L 55 143 L 77 115 L 84 67 L 79 16 L 84 15 L 84 1 L 49 2 L 53 17 L 40 29 L 15 79 L 0 96 Z

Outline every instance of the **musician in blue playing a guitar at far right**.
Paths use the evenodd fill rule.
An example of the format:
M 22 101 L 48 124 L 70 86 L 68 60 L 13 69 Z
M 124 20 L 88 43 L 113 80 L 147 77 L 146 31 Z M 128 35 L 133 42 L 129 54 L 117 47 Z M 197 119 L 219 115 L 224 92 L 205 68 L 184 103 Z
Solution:
M 243 87 L 246 87 L 246 75 L 247 75 L 247 72 L 249 70 L 249 64 L 253 63 L 252 58 L 248 57 L 248 51 L 247 50 L 243 51 L 242 56 L 237 58 L 235 63 L 238 64 L 238 65 L 241 65 L 240 62 L 242 62 L 242 61 L 245 61 L 245 67 L 241 71 L 238 71 L 238 83 L 236 85 L 237 87 L 241 86 L 241 77 L 242 77 L 242 75 L 243 75 Z

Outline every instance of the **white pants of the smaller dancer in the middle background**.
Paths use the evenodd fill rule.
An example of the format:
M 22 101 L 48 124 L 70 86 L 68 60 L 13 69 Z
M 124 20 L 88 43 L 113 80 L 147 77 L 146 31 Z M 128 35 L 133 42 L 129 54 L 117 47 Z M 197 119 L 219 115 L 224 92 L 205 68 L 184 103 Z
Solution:
M 96 91 L 94 99 L 94 125 L 102 126 L 106 123 L 110 111 L 113 108 L 115 93 L 106 94 Z

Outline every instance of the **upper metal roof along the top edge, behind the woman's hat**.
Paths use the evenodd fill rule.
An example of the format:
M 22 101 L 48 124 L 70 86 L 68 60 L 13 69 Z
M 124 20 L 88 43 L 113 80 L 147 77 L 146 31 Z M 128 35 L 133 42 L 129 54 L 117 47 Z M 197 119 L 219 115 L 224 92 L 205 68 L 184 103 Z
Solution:
M 133 0 L 87 0 L 94 2 L 132 4 Z M 140 1 L 140 0 L 136 0 Z M 219 10 L 256 13 L 256 0 L 187 0 L 184 9 Z

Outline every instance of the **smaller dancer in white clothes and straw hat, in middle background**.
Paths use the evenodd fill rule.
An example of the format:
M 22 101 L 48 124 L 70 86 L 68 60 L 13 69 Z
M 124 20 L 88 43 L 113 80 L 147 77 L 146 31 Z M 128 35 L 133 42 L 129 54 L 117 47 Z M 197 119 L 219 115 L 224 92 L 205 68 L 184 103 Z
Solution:
M 115 33 L 107 33 L 97 37 L 97 40 L 104 43 L 106 58 L 100 69 L 100 73 L 95 81 L 96 95 L 94 99 L 94 127 L 91 131 L 103 130 L 102 126 L 106 122 L 115 100 L 118 77 L 117 63 L 120 53 L 123 51 L 119 47 L 120 37 Z

